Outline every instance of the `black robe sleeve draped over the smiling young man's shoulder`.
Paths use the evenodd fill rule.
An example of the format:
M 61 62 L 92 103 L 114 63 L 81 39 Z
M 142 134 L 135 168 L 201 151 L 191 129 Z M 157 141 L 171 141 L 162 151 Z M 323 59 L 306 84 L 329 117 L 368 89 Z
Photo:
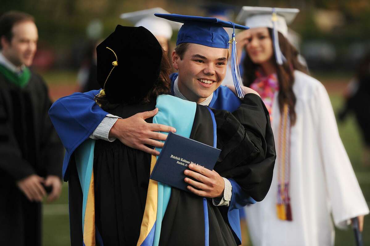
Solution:
M 215 165 L 222 177 L 234 179 L 256 201 L 269 191 L 276 159 L 269 113 L 261 98 L 246 94 L 240 107 L 230 113 L 213 110 L 217 124 Z

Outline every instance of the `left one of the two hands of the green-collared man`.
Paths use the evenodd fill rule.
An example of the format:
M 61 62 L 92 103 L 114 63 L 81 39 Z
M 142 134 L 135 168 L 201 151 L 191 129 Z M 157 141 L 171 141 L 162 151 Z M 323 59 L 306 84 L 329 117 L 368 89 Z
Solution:
M 41 202 L 46 195 L 46 191 L 42 186 L 43 182 L 43 177 L 32 174 L 24 179 L 19 180 L 17 182 L 17 186 L 31 202 Z

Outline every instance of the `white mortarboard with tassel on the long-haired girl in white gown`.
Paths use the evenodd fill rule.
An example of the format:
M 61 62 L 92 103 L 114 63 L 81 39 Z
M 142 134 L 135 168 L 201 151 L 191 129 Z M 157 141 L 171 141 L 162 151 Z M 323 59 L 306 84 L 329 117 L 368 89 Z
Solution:
M 238 16 L 237 22 L 244 22 L 250 28 L 268 27 L 273 30 L 273 45 L 275 50 L 276 62 L 283 64 L 285 57 L 280 51 L 279 38 L 277 32 L 280 32 L 287 38 L 288 27 L 293 22 L 299 9 L 297 8 L 270 8 L 270 7 L 251 7 L 243 6 Z

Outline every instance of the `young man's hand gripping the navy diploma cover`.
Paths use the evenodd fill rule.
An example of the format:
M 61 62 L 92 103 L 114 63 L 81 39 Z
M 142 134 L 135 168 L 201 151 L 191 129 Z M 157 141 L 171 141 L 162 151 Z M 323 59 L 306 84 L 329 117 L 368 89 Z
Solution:
M 185 170 L 184 173 L 198 181 L 185 178 L 185 182 L 191 184 L 188 190 L 201 197 L 215 198 L 223 197 L 225 181 L 215 170 L 208 170 L 205 167 L 190 164 L 191 170 Z M 194 187 L 195 188 L 194 188 Z

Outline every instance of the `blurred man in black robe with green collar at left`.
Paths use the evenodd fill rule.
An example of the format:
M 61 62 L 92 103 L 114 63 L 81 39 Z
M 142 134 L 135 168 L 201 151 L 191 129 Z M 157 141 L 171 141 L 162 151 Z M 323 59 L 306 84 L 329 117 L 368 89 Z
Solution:
M 47 114 L 43 79 L 30 70 L 37 48 L 34 18 L 0 17 L 0 245 L 41 245 L 41 202 L 61 192 L 63 146 Z

